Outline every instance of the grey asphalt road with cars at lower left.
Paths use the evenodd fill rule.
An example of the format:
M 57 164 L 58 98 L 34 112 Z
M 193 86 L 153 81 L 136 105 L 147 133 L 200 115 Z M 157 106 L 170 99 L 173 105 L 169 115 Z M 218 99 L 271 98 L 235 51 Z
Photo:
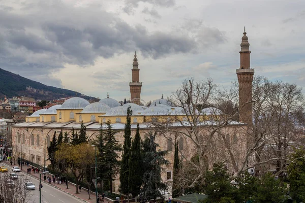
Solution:
M 4 164 L 1 164 L 4 165 Z M 5 165 L 6 166 L 6 165 Z M 8 167 L 8 174 L 12 173 L 12 168 Z M 0 172 L 1 173 L 1 172 Z M 20 172 L 17 173 L 19 175 L 19 178 L 23 179 L 29 179 L 32 183 L 35 184 L 36 188 L 35 190 L 29 191 L 29 195 L 32 196 L 30 202 L 39 203 L 39 180 L 32 178 L 31 176 L 28 176 L 27 174 Z M 70 194 L 67 194 L 61 190 L 58 190 L 49 184 L 42 181 L 42 188 L 41 188 L 41 202 L 44 203 L 68 203 L 68 202 L 83 202 L 80 199 L 77 199 Z

